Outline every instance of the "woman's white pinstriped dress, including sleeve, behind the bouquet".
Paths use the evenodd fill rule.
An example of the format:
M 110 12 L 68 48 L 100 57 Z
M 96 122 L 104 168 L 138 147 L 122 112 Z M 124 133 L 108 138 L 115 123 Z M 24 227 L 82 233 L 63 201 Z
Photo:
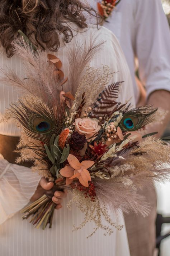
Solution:
M 122 50 L 115 36 L 106 28 L 96 30 L 91 26 L 83 33 L 77 33 L 73 42 L 96 33 L 99 40 L 104 40 L 104 48 L 97 57 L 91 61 L 91 66 L 100 67 L 107 64 L 115 73 L 111 82 L 125 81 L 121 88 L 119 100 L 125 103 L 131 99 L 134 107 L 133 87 L 129 69 Z M 58 58 L 63 63 L 63 71 L 67 76 L 67 50 L 61 47 L 57 52 Z M 5 54 L 0 57 L 1 67 L 12 67 L 18 73 L 22 72 L 22 60 L 16 56 L 7 59 Z M 1 75 L 1 74 L 0 74 Z M 11 102 L 18 99 L 12 87 L 0 84 L 0 114 Z M 13 123 L 1 123 L 0 134 L 18 136 L 20 131 Z M 63 207 L 55 211 L 52 229 L 35 229 L 29 220 L 21 220 L 19 211 L 27 205 L 34 194 L 39 179 L 37 174 L 30 169 L 0 160 L 0 255 L 1 256 L 129 256 L 126 228 L 121 231 L 114 229 L 110 236 L 104 236 L 103 230 L 98 230 L 95 235 L 87 239 L 86 236 L 93 231 L 93 223 L 86 224 L 85 228 L 72 233 L 72 225 L 79 225 L 83 214 L 75 206 L 69 211 L 66 207 L 71 194 L 63 201 Z M 114 198 L 113 198 L 114 200 Z M 124 224 L 120 213 L 118 218 L 112 216 L 117 224 Z

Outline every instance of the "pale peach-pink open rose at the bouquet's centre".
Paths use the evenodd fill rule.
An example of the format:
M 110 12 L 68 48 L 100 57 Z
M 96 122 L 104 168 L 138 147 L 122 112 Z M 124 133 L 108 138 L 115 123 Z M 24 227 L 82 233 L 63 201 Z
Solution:
M 98 121 L 90 118 L 76 118 L 75 119 L 75 131 L 80 134 L 84 134 L 86 139 L 90 139 L 100 130 L 101 126 L 98 125 Z

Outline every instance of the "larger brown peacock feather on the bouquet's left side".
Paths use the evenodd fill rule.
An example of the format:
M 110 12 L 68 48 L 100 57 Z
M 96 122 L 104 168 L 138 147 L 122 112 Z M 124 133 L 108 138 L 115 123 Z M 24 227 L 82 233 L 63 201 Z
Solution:
M 52 107 L 41 99 L 27 96 L 13 103 L 7 112 L 22 125 L 25 133 L 45 144 L 53 134 L 60 134 L 65 124 L 65 115 L 60 105 Z

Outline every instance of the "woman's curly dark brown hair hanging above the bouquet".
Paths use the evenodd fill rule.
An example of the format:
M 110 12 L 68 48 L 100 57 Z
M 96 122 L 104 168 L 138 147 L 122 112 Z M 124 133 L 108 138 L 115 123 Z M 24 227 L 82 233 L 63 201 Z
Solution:
M 84 12 L 95 16 L 98 23 L 95 10 L 79 0 L 0 0 L 0 44 L 11 57 L 11 42 L 20 29 L 42 49 L 57 51 L 61 34 L 65 43 L 73 37 L 69 22 L 88 27 Z

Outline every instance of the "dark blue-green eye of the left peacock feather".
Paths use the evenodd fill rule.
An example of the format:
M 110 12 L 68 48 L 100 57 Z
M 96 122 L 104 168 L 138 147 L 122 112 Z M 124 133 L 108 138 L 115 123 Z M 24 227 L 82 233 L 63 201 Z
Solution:
M 51 130 L 51 123 L 41 117 L 35 117 L 33 120 L 34 130 L 39 133 L 48 133 Z

